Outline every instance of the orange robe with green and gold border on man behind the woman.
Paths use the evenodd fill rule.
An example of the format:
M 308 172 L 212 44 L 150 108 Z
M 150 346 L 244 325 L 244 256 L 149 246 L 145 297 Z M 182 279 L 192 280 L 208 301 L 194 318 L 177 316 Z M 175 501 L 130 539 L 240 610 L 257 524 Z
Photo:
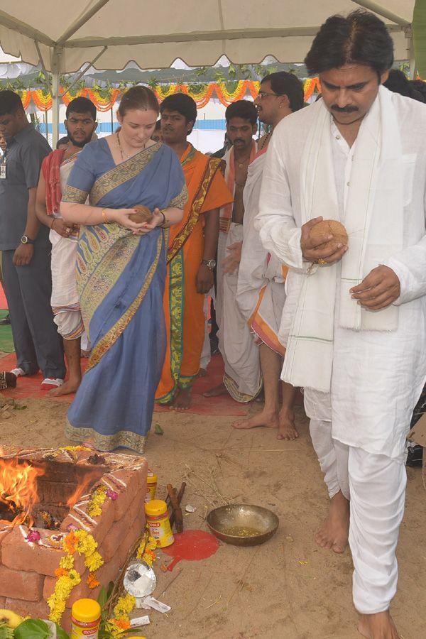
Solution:
M 179 388 L 192 385 L 200 369 L 204 343 L 204 293 L 197 293 L 197 273 L 204 251 L 203 213 L 232 200 L 222 175 L 222 161 L 192 145 L 181 158 L 189 200 L 180 224 L 170 229 L 164 291 L 167 350 L 155 400 L 167 404 Z

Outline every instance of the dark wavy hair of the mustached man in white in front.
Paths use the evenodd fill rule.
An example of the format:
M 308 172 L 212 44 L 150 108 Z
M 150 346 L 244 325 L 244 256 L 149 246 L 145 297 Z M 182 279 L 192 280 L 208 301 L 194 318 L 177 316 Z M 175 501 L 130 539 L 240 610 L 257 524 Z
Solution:
M 379 78 L 393 65 L 393 40 L 385 23 L 364 9 L 328 18 L 305 58 L 309 75 L 351 63 L 371 67 Z

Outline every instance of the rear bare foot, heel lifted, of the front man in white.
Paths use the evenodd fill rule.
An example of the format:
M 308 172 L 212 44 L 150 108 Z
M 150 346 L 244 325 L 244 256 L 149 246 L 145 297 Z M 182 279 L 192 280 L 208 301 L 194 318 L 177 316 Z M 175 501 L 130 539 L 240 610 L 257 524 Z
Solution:
M 322 548 L 341 554 L 348 545 L 349 501 L 342 491 L 332 497 L 327 519 L 315 535 L 315 541 Z

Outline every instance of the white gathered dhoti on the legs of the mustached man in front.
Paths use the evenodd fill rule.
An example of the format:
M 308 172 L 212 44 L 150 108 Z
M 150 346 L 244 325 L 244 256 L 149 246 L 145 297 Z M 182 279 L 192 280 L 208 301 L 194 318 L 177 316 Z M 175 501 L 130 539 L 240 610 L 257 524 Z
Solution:
M 331 422 L 311 420 L 310 433 L 329 496 L 342 491 L 350 498 L 354 606 L 366 615 L 388 610 L 398 583 L 395 550 L 404 514 L 405 457 L 346 446 L 332 438 Z

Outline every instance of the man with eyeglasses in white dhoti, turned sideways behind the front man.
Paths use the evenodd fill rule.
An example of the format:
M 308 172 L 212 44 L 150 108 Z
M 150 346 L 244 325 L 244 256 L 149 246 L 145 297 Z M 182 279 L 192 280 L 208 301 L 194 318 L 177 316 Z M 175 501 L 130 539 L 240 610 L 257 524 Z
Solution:
M 263 248 L 254 219 L 259 211 L 263 168 L 273 130 L 281 120 L 302 109 L 303 98 L 302 82 L 295 75 L 280 71 L 263 78 L 254 101 L 259 119 L 270 130 L 258 142 L 258 153 L 249 167 L 244 187 L 244 239 L 236 295 L 239 310 L 251 329 L 251 339 L 258 345 L 257 370 L 263 379 L 265 405 L 250 419 L 234 423 L 234 428 L 276 428 L 278 439 L 298 437 L 293 413 L 295 388 L 284 382 L 281 383 L 280 408 L 280 372 L 285 348 L 278 339 L 278 330 L 288 269 Z

